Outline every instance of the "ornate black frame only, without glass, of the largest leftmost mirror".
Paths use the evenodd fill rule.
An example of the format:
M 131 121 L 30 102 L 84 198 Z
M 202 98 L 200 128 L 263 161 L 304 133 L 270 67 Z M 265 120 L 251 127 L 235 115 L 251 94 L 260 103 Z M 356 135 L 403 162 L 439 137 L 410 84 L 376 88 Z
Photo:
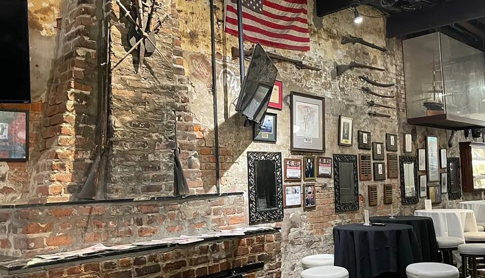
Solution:
M 274 161 L 276 174 L 276 207 L 258 211 L 256 192 L 257 161 Z M 247 152 L 247 187 L 249 201 L 249 224 L 283 218 L 283 179 L 281 171 L 281 152 Z

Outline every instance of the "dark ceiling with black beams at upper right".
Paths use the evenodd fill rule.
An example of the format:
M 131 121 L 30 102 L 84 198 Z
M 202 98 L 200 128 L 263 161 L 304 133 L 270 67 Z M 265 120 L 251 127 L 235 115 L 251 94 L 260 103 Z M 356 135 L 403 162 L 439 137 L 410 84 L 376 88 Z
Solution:
M 317 15 L 348 9 L 350 2 L 316 0 Z M 485 0 L 360 0 L 360 3 L 378 9 L 387 17 L 388 38 L 441 31 L 484 50 Z

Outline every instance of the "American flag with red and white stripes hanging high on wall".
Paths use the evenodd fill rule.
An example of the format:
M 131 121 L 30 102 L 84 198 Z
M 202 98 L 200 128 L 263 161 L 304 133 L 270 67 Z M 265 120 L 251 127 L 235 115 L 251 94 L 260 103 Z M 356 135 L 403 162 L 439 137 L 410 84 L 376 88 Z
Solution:
M 237 0 L 225 0 L 226 33 L 238 35 Z M 244 39 L 282 49 L 310 50 L 307 0 L 241 0 Z

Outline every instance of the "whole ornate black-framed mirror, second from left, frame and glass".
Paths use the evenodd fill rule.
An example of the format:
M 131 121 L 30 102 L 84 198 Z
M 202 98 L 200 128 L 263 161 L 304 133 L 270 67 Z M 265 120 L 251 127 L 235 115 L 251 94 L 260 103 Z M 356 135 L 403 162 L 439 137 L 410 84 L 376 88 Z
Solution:
M 334 154 L 335 212 L 359 209 L 357 156 Z

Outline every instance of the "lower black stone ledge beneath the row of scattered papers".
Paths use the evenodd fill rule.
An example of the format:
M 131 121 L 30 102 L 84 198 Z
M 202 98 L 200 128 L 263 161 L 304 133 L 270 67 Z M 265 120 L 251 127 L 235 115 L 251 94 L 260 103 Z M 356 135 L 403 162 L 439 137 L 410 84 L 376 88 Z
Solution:
M 273 234 L 273 233 L 279 232 L 280 230 L 281 230 L 280 227 L 274 227 L 271 230 L 247 231 L 245 232 L 245 235 L 209 238 L 209 239 L 204 239 L 203 241 L 198 241 L 191 244 L 184 244 L 184 245 L 163 244 L 163 245 L 151 245 L 151 246 L 136 246 L 134 248 L 127 249 L 127 250 L 106 250 L 103 252 L 98 252 L 95 254 L 86 255 L 82 257 L 72 257 L 72 258 L 66 258 L 62 260 L 42 261 L 38 263 L 32 263 L 32 258 L 24 259 L 24 258 L 16 258 L 16 257 L 0 255 L 0 272 L 4 274 L 9 274 L 9 275 L 16 274 L 16 273 L 28 273 L 31 271 L 35 271 L 35 269 L 54 268 L 54 267 L 69 266 L 69 265 L 82 264 L 82 263 L 88 263 L 88 262 L 100 262 L 100 261 L 122 258 L 126 256 L 141 256 L 141 255 L 151 254 L 155 252 L 157 253 L 168 252 L 175 248 L 193 248 L 196 245 L 215 243 L 215 242 L 224 241 L 227 239 L 239 239 L 239 238 L 244 238 L 249 236 Z M 102 259 L 102 260 L 99 260 L 99 259 Z

